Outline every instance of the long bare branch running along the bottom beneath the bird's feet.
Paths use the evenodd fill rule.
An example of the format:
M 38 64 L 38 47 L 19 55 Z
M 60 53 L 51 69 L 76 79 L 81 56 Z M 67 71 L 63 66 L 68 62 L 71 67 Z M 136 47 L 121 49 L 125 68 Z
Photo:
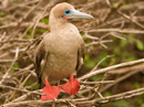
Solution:
M 74 101 L 74 104 L 76 105 L 94 105 L 94 104 L 103 104 L 103 103 L 109 103 L 109 101 L 113 101 L 113 100 L 120 100 L 120 99 L 125 99 L 125 98 L 131 98 L 134 96 L 138 96 L 144 94 L 144 87 L 143 88 L 138 88 L 138 89 L 134 89 L 134 90 L 130 90 L 130 92 L 125 92 L 125 93 L 121 93 L 121 94 L 116 94 L 116 95 L 112 95 L 109 97 L 102 97 L 102 98 L 97 98 L 97 99 L 92 99 L 92 100 L 88 100 L 88 101 L 76 101 L 75 99 L 58 99 L 55 103 L 66 103 L 69 100 Z M 53 101 L 41 101 L 41 100 L 27 100 L 27 101 L 18 101 L 18 103 L 9 103 L 9 104 L 4 104 L 1 107 L 17 107 L 17 106 L 28 106 L 28 105 L 35 105 L 35 106 L 44 106 L 44 105 L 51 105 Z

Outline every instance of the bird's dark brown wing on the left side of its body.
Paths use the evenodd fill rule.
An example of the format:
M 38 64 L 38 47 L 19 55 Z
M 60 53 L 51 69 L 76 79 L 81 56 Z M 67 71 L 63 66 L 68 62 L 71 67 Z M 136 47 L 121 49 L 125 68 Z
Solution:
M 35 53 L 34 53 L 34 65 L 35 65 L 35 73 L 38 75 L 38 78 L 39 78 L 39 83 L 40 85 L 42 84 L 42 63 L 45 61 L 44 57 L 47 57 L 47 52 L 45 52 L 45 49 L 44 49 L 44 43 L 43 43 L 43 40 L 41 41 L 41 43 L 38 45 L 38 47 L 35 49 Z M 43 64 L 44 65 L 44 64 Z

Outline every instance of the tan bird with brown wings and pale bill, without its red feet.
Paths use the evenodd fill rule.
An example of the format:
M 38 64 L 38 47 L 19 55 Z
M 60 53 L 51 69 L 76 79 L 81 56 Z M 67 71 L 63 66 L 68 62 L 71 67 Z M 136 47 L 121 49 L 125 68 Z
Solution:
M 55 84 L 79 72 L 84 58 L 84 41 L 71 19 L 93 19 L 68 2 L 55 4 L 49 15 L 50 32 L 34 52 L 35 73 L 41 86 Z M 71 77 L 73 78 L 73 77 Z M 72 81 L 72 79 L 71 79 Z

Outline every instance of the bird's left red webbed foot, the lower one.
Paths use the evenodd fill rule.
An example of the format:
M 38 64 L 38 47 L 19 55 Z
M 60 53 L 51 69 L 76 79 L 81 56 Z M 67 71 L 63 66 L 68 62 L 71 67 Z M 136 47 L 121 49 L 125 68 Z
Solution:
M 41 100 L 53 100 L 58 97 L 61 89 L 60 86 L 50 86 L 50 83 L 45 79 L 45 87 L 42 89 Z

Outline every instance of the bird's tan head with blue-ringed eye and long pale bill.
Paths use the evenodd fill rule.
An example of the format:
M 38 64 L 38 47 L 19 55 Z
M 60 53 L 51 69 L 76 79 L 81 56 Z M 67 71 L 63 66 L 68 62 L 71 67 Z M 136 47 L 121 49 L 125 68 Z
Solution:
M 62 18 L 65 20 L 69 19 L 93 19 L 93 17 L 91 14 L 88 13 L 83 13 L 80 12 L 78 10 L 74 9 L 73 6 L 71 6 L 70 3 L 63 2 L 63 3 L 59 3 L 56 4 L 51 13 L 53 13 L 54 18 Z

